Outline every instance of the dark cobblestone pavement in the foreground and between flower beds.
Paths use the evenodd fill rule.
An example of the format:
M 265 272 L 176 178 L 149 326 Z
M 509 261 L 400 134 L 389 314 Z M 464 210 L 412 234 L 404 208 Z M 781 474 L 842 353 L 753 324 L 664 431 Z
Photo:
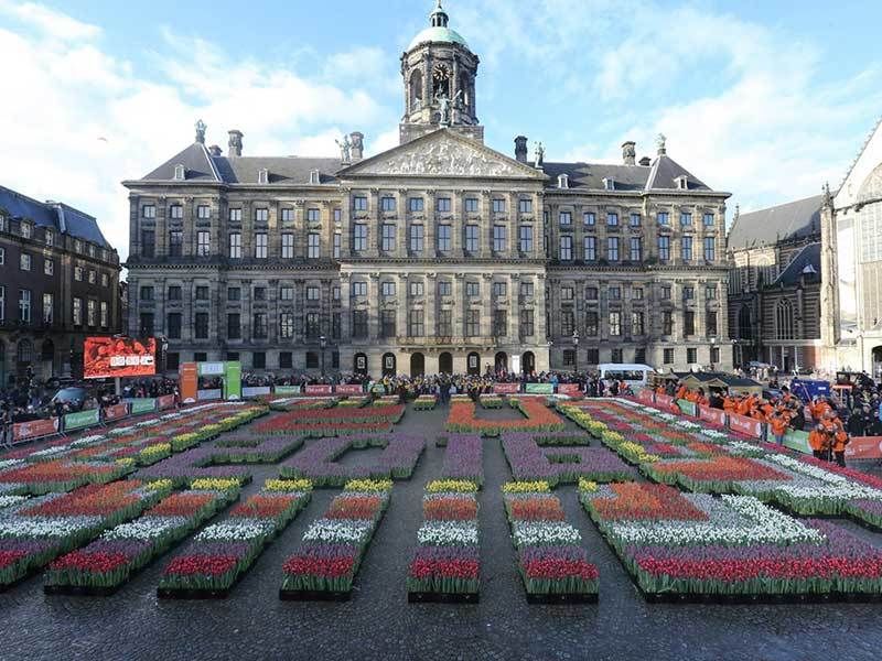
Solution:
M 433 441 L 442 433 L 445 414 L 444 410 L 408 411 L 397 430 L 422 433 Z M 600 603 L 528 606 L 514 568 L 499 494 L 510 473 L 499 442 L 485 443 L 480 604 L 407 603 L 405 577 L 421 521 L 422 489 L 438 474 L 444 452 L 430 443 L 413 477 L 396 484 L 352 602 L 291 603 L 278 598 L 282 562 L 310 521 L 322 514 L 336 494 L 333 489 L 316 490 L 309 508 L 269 545 L 226 600 L 157 599 L 160 573 L 175 551 L 160 557 L 111 597 L 45 596 L 40 576 L 0 594 L 0 659 L 806 661 L 829 659 L 831 650 L 849 661 L 882 657 L 880 605 L 645 603 L 579 507 L 573 487 L 558 492 L 568 520 L 582 532 L 591 559 L 600 567 Z M 346 462 L 358 460 L 357 455 Z M 277 473 L 277 466 L 254 467 L 255 479 L 244 497 Z M 863 534 L 882 543 L 882 535 Z

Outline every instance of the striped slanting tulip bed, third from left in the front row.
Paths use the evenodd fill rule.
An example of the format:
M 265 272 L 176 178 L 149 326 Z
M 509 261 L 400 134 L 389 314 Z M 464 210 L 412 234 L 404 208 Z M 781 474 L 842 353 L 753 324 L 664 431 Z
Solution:
M 259 494 L 236 506 L 227 520 L 204 529 L 186 553 L 169 563 L 157 594 L 166 598 L 226 597 L 311 497 L 312 485 L 306 480 L 267 480 Z

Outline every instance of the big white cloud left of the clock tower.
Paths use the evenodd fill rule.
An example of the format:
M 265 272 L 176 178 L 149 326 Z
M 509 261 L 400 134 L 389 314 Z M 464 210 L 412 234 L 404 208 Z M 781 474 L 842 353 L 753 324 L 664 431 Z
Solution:
M 165 32 L 150 57 L 151 78 L 103 50 L 98 28 L 36 4 L 0 0 L 0 12 L 37 30 L 0 28 L 4 133 L 0 182 L 39 199 L 60 199 L 98 218 L 120 257 L 128 254 L 128 201 L 120 181 L 150 172 L 193 140 L 226 150 L 226 131 L 245 132 L 246 154 L 337 154 L 334 138 L 361 130 L 370 145 L 395 113 L 370 91 L 323 80 L 321 72 L 233 61 L 213 43 Z M 174 46 L 172 46 L 174 44 Z M 349 56 L 341 55 L 344 63 Z M 159 72 L 159 76 L 157 76 Z M 385 138 L 384 138 L 385 140 Z

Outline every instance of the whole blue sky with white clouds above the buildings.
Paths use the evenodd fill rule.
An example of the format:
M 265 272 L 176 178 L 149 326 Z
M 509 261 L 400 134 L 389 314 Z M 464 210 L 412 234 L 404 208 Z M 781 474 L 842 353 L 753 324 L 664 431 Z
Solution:
M 482 59 L 488 145 L 617 161 L 654 137 L 755 209 L 836 187 L 882 115 L 882 3 L 448 0 Z M 126 191 L 193 139 L 331 155 L 361 130 L 394 147 L 398 58 L 431 0 L 45 3 L 0 0 L 0 183 L 96 215 L 127 254 Z M 876 32 L 876 33 L 874 33 Z M 8 77 L 7 77 L 8 76 Z

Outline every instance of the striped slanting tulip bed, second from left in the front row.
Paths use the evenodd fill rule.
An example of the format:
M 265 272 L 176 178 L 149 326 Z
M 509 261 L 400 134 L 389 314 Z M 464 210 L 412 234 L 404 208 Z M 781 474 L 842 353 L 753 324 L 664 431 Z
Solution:
M 46 594 L 112 594 L 238 496 L 235 480 L 194 485 L 168 496 L 135 521 L 121 523 L 53 562 L 44 589 Z

